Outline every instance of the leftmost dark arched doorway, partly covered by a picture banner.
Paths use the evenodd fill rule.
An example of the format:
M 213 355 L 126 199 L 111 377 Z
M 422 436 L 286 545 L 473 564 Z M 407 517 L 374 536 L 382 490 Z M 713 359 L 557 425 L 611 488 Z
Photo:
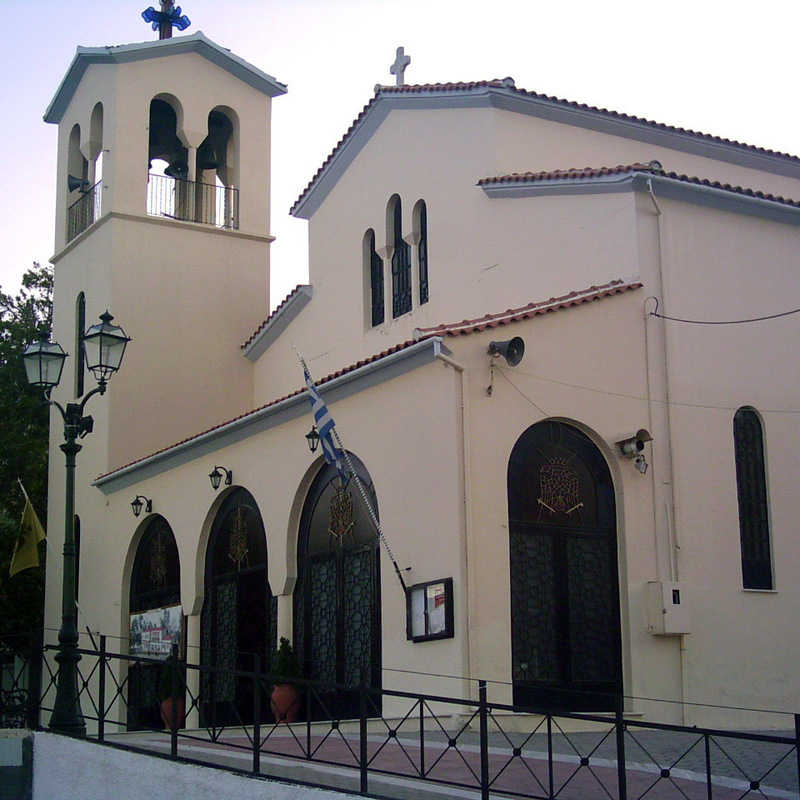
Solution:
M 130 588 L 131 652 L 150 653 L 137 644 L 138 630 L 157 617 L 159 610 L 180 605 L 181 571 L 178 546 L 169 523 L 153 515 L 139 540 Z M 148 613 L 149 612 L 149 613 Z M 131 663 L 128 670 L 128 729 L 162 727 L 159 713 L 158 664 Z

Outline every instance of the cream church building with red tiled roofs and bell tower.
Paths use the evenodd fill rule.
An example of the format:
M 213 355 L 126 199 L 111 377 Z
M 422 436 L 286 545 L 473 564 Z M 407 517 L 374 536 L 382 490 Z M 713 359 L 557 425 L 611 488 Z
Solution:
M 309 280 L 276 303 L 286 85 L 202 33 L 78 48 L 45 114 L 53 399 L 93 388 L 98 315 L 132 339 L 78 457 L 79 629 L 135 653 L 173 626 L 190 663 L 246 670 L 287 637 L 308 678 L 480 678 L 520 709 L 795 710 L 800 159 L 403 69 L 292 206 Z M 298 354 L 346 480 L 310 452 Z M 50 628 L 61 584 L 51 558 Z M 244 683 L 189 680 L 188 725 L 248 721 Z

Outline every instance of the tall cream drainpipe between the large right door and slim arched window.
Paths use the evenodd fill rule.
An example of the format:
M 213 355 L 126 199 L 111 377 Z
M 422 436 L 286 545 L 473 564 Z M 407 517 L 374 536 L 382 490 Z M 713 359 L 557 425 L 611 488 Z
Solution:
M 656 213 L 657 264 L 654 297 L 644 304 L 645 357 L 647 359 L 647 402 L 651 431 L 654 435 L 653 451 L 653 527 L 655 530 L 656 570 L 658 580 L 680 580 L 680 543 L 675 526 L 675 491 L 672 469 L 672 426 L 670 423 L 669 354 L 664 321 L 651 316 L 664 297 L 664 246 L 662 241 L 663 212 L 653 190 L 653 180 L 647 180 L 647 193 Z M 667 548 L 664 552 L 665 547 Z M 680 639 L 681 718 L 689 724 L 688 669 L 686 636 Z

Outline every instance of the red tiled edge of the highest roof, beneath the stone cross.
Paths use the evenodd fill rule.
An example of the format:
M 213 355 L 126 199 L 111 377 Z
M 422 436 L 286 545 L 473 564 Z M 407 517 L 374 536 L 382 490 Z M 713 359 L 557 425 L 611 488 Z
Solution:
M 491 88 L 491 89 L 508 89 L 515 94 L 522 95 L 524 97 L 531 97 L 535 100 L 542 100 L 548 103 L 554 103 L 559 106 L 563 106 L 565 108 L 572 108 L 576 111 L 588 111 L 589 113 L 593 114 L 602 114 L 603 116 L 611 117 L 613 119 L 622 120 L 624 122 L 633 122 L 639 125 L 646 125 L 647 127 L 654 128 L 656 130 L 664 131 L 665 133 L 675 133 L 684 136 L 692 136 L 697 139 L 702 139 L 703 141 L 707 142 L 714 142 L 716 144 L 724 144 L 730 147 L 736 147 L 742 150 L 747 150 L 751 153 L 759 153 L 760 155 L 765 156 L 773 156 L 776 158 L 782 158 L 789 161 L 792 161 L 796 164 L 800 164 L 800 156 L 792 155 L 791 153 L 784 153 L 780 150 L 770 150 L 766 147 L 759 147 L 753 144 L 747 144 L 746 142 L 740 142 L 736 139 L 727 139 L 723 136 L 715 136 L 714 134 L 710 133 L 703 133 L 702 131 L 695 131 L 690 128 L 681 128 L 676 125 L 667 125 L 663 122 L 655 122 L 654 120 L 647 119 L 646 117 L 637 117 L 632 114 L 625 114 L 621 111 L 612 111 L 607 108 L 599 108 L 598 106 L 591 106 L 587 103 L 578 103 L 574 100 L 565 100 L 561 97 L 556 97 L 555 95 L 546 95 L 541 94 L 539 92 L 529 91 L 527 89 L 518 89 L 514 85 L 513 78 L 503 78 L 503 79 L 494 79 L 488 81 L 466 81 L 466 82 L 453 82 L 453 83 L 425 83 L 425 84 L 411 84 L 411 85 L 403 85 L 403 86 L 376 86 L 375 87 L 375 96 L 367 103 L 363 109 L 361 109 L 361 113 L 353 120 L 350 127 L 345 131 L 344 135 L 341 139 L 336 143 L 333 150 L 331 150 L 328 157 L 322 162 L 322 165 L 319 169 L 314 173 L 314 176 L 306 185 L 305 189 L 300 193 L 297 200 L 293 203 L 291 209 L 289 209 L 289 213 L 294 213 L 294 210 L 298 207 L 298 205 L 305 199 L 306 195 L 312 189 L 314 184 L 316 183 L 317 179 L 320 175 L 325 171 L 325 168 L 330 164 L 330 162 L 335 158 L 336 154 L 339 150 L 344 147 L 347 140 L 353 134 L 355 129 L 358 127 L 359 123 L 364 119 L 364 117 L 369 112 L 370 108 L 375 104 L 378 98 L 382 95 L 389 95 L 389 94 L 424 94 L 425 92 L 459 92 L 459 91 L 470 91 L 472 89 L 481 89 L 481 88 Z

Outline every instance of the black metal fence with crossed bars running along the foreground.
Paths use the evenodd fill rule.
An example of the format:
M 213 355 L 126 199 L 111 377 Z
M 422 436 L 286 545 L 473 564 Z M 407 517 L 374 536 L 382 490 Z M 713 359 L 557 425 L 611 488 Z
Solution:
M 0 650 L 6 660 L 20 642 Z M 0 720 L 16 715 L 30 725 L 41 714 L 46 724 L 57 646 L 36 651 L 28 644 L 22 650 L 14 656 L 16 674 L 40 659 L 42 681 L 38 688 L 35 682 L 12 681 L 16 689 L 4 689 L 0 698 Z M 206 703 L 210 711 L 204 712 L 198 687 L 209 682 L 200 675 L 221 670 L 181 662 L 167 670 L 171 692 L 185 698 L 188 721 L 180 713 L 175 724 L 167 714 L 171 725 L 130 733 L 126 704 L 131 667 L 158 665 L 163 671 L 163 662 L 112 652 L 105 636 L 97 647 L 81 648 L 80 653 L 87 738 L 253 775 L 375 797 L 392 796 L 398 786 L 406 796 L 409 786 L 421 793 L 426 784 L 471 790 L 481 798 L 542 800 L 727 800 L 799 794 L 800 715 L 795 714 L 785 716 L 785 732 L 758 733 L 651 722 L 626 716 L 621 708 L 608 715 L 519 709 L 490 700 L 483 681 L 476 697 L 464 698 L 298 680 L 300 721 L 288 723 L 270 710 L 273 676 L 258 669 L 226 671 L 227 684 L 248 687 L 248 707 L 242 708 L 245 695 L 236 693 L 228 708 Z M 18 690 L 24 691 L 24 702 L 14 694 Z M 331 698 L 353 691 L 358 693 L 357 718 L 338 718 Z M 327 718 L 306 718 L 305 709 L 311 708 L 323 709 Z

